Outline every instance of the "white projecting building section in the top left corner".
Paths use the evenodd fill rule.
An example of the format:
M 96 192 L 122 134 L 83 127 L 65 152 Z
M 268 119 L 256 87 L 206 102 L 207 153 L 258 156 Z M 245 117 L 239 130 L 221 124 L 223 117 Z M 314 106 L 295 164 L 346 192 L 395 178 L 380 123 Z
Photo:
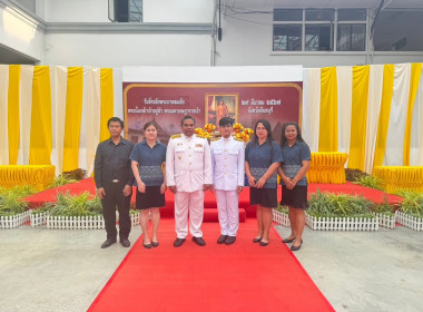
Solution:
M 0 43 L 43 61 L 45 33 L 30 16 L 21 14 L 0 3 Z

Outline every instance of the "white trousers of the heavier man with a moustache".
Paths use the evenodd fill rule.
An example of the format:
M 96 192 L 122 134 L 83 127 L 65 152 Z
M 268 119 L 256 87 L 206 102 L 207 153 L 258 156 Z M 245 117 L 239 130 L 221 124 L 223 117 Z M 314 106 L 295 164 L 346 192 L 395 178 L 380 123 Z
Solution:
M 194 237 L 203 237 L 201 224 L 204 213 L 204 191 L 176 192 L 175 194 L 175 224 L 176 236 L 185 238 L 188 235 L 188 212 L 189 233 Z

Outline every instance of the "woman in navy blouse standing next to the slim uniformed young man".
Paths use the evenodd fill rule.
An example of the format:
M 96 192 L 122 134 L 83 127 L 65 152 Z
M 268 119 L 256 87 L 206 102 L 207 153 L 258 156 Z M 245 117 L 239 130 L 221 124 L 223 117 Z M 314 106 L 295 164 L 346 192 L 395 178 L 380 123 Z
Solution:
M 258 234 L 253 240 L 267 246 L 272 226 L 272 208 L 277 206 L 277 168 L 282 159 L 279 145 L 272 139 L 270 124 L 259 119 L 254 139 L 245 149 L 245 173 L 248 177 L 249 204 L 257 205 Z

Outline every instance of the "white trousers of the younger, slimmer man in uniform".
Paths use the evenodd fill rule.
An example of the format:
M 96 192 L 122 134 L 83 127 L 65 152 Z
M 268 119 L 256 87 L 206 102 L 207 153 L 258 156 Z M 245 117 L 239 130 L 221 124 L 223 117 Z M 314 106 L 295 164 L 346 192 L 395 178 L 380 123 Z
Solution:
M 216 202 L 222 235 L 236 236 L 239 227 L 238 194 L 236 191 L 216 189 Z

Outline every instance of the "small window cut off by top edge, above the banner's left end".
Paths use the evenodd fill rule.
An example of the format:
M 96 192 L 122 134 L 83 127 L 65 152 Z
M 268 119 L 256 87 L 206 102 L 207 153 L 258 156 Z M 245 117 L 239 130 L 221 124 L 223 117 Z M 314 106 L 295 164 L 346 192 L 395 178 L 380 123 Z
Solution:
M 109 20 L 117 22 L 142 21 L 142 0 L 109 0 Z

